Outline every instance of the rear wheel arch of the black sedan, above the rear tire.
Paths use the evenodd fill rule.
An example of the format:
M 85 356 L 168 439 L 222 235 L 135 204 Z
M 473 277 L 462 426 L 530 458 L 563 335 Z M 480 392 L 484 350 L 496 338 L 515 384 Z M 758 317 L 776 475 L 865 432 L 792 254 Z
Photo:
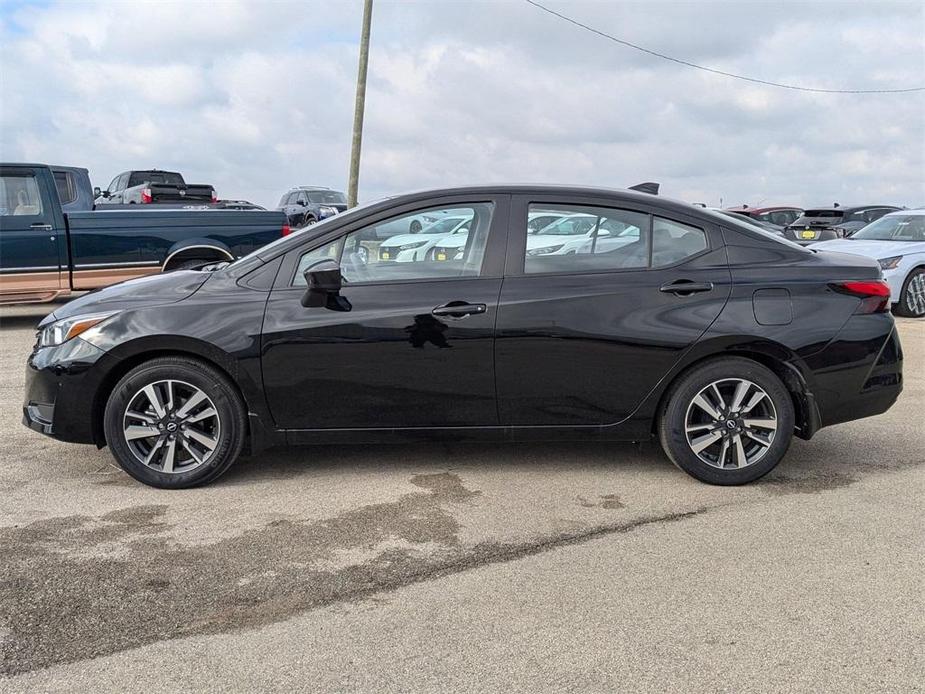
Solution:
M 785 345 L 771 340 L 747 338 L 723 338 L 697 345 L 696 350 L 671 373 L 658 396 L 658 405 L 652 417 L 652 433 L 655 435 L 658 422 L 668 403 L 672 387 L 693 369 L 710 361 L 724 357 L 750 359 L 769 369 L 777 376 L 790 393 L 794 410 L 794 435 L 810 439 L 821 426 L 821 417 L 816 406 L 815 397 L 806 374 L 798 364 L 800 357 Z

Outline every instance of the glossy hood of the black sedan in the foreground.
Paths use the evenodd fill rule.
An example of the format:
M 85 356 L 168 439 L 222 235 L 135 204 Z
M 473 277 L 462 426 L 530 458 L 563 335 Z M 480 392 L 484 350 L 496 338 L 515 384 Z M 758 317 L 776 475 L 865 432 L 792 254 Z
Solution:
M 172 304 L 191 296 L 211 276 L 210 272 L 177 270 L 120 282 L 69 301 L 46 316 L 40 325 L 82 313 Z

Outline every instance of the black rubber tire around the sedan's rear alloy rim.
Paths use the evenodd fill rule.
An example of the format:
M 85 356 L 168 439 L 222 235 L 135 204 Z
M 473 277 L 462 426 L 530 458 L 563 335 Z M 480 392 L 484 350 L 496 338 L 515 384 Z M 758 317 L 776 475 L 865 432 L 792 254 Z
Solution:
M 689 413 L 696 412 L 693 405 L 694 399 L 701 394 L 705 388 L 709 388 L 713 383 L 724 381 L 728 385 L 721 385 L 721 389 L 732 388 L 736 380 L 750 382 L 753 386 L 757 386 L 764 391 L 767 397 L 754 407 L 758 408 L 760 406 L 770 413 L 768 419 L 773 419 L 776 422 L 776 431 L 773 434 L 773 438 L 770 440 L 770 445 L 766 445 L 763 449 L 749 439 L 747 435 L 740 435 L 741 440 L 744 442 L 744 446 L 752 447 L 756 451 L 763 450 L 764 452 L 760 456 L 756 456 L 754 462 L 746 464 L 745 466 L 732 467 L 730 465 L 720 469 L 720 467 L 716 466 L 716 463 L 709 464 L 704 462 L 704 460 L 694 452 L 691 443 L 688 442 L 686 427 L 688 425 Z M 756 394 L 757 390 L 751 392 Z M 726 399 L 727 397 L 723 397 L 723 400 Z M 769 409 L 770 406 L 766 401 L 770 402 L 770 406 L 773 406 L 773 410 Z M 726 404 L 731 405 L 732 403 L 729 402 Z M 728 440 L 730 442 L 733 441 L 736 432 L 742 431 L 742 422 L 747 416 L 741 412 L 743 407 L 744 406 L 739 408 L 740 412 L 738 414 L 729 418 L 729 420 L 735 420 L 736 426 L 739 428 L 735 428 L 732 424 L 728 424 L 725 415 L 722 416 L 722 425 L 717 425 L 715 427 L 715 435 L 720 438 L 717 439 L 717 446 L 713 450 L 716 451 L 717 449 L 721 449 L 719 453 L 716 453 L 716 458 L 719 459 L 722 455 L 724 462 L 728 461 L 729 463 L 733 463 L 735 461 L 736 453 L 724 448 L 723 442 L 727 440 L 729 436 L 733 438 Z M 717 409 L 719 410 L 720 408 Z M 727 408 L 726 412 L 729 412 L 730 409 L 731 408 Z M 753 414 L 752 416 L 757 417 L 758 415 Z M 707 416 L 704 419 L 709 420 L 710 417 Z M 733 427 L 733 429 L 726 431 L 723 428 L 725 425 Z M 790 441 L 793 438 L 793 426 L 793 401 L 789 391 L 774 372 L 750 359 L 741 357 L 721 357 L 691 369 L 672 384 L 666 399 L 665 408 L 662 411 L 658 430 L 659 439 L 665 453 L 671 461 L 684 470 L 684 472 L 709 484 L 737 485 L 753 482 L 774 469 L 790 447 Z M 752 431 L 756 430 L 752 429 Z M 709 430 L 704 430 L 703 433 L 708 432 Z M 699 435 L 701 435 L 700 432 L 698 432 L 698 436 Z M 694 434 L 692 434 L 692 436 L 694 436 Z M 730 446 L 733 446 L 733 444 L 730 443 Z M 711 455 L 707 451 L 704 451 L 703 454 L 705 456 Z M 749 455 L 746 451 L 745 458 L 748 459 L 748 457 Z

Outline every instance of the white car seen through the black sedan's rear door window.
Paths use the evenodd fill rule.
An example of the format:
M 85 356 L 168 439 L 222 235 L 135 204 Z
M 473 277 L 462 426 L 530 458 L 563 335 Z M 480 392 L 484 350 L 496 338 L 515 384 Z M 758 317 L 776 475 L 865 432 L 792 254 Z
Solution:
M 570 214 L 529 234 L 527 255 L 606 253 L 638 238 L 638 227 L 616 219 L 584 213 Z

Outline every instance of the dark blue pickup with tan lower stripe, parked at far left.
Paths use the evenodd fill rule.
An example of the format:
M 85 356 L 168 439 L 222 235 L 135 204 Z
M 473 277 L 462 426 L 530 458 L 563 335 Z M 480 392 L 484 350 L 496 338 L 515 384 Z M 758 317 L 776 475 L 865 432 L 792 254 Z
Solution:
M 86 169 L 0 164 L 0 303 L 50 301 L 157 272 L 233 260 L 289 233 L 282 212 L 72 211 Z

